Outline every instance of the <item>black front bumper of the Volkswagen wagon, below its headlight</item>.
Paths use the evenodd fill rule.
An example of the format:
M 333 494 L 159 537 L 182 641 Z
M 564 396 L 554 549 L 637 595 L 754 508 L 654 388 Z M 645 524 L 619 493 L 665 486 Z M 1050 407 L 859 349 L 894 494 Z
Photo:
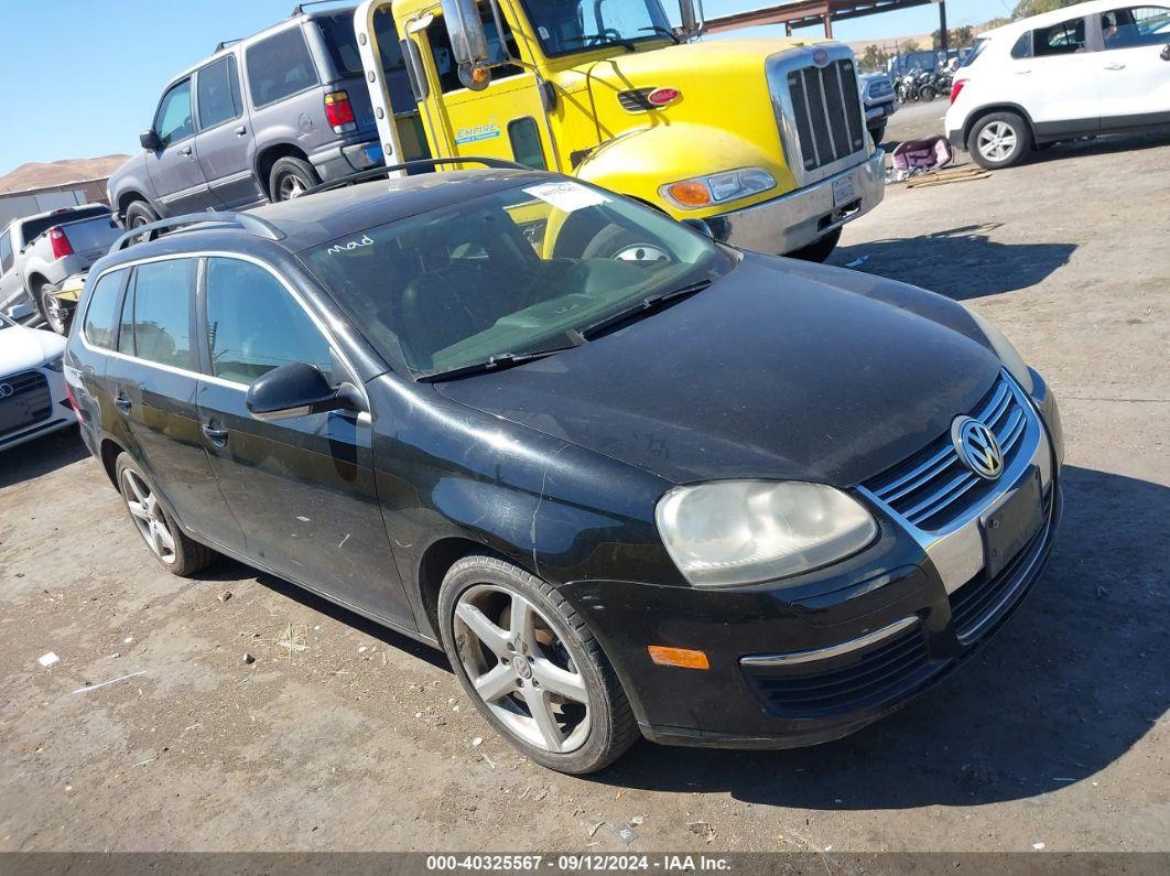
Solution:
M 991 516 L 1030 478 L 1041 485 L 1042 522 L 994 574 L 918 540 L 875 508 L 880 534 L 861 554 L 810 573 L 807 585 L 704 591 L 587 581 L 565 596 L 585 618 L 629 695 L 647 738 L 744 749 L 813 745 L 847 736 L 904 706 L 978 651 L 1044 571 L 1061 516 L 1062 456 L 1054 418 L 1034 451 L 1005 473 L 973 518 Z M 992 524 L 989 524 L 992 525 Z M 965 526 L 964 526 L 965 529 Z M 959 539 L 959 543 L 962 539 Z M 940 551 L 936 553 L 936 549 Z M 646 646 L 702 650 L 706 671 L 654 665 Z

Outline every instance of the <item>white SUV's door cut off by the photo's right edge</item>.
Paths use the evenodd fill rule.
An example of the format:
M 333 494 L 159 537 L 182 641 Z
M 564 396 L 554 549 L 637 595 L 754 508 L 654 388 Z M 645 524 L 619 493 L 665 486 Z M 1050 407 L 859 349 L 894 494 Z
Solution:
M 1170 124 L 1170 4 L 1120 6 L 1101 15 L 1101 126 Z

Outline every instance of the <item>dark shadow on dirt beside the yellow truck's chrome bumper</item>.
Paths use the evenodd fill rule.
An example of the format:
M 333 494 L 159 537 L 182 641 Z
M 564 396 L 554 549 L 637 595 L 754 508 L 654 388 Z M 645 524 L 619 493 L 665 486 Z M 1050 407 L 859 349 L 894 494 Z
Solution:
M 1037 285 L 1076 249 L 1074 243 L 999 243 L 989 236 L 998 227 L 963 226 L 840 247 L 830 263 L 970 301 Z

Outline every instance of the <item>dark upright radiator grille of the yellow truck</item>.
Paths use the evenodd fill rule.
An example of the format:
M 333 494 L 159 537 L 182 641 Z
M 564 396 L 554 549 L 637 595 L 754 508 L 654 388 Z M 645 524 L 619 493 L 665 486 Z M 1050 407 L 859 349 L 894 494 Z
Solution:
M 787 76 L 804 170 L 815 171 L 866 147 L 853 61 L 804 67 Z

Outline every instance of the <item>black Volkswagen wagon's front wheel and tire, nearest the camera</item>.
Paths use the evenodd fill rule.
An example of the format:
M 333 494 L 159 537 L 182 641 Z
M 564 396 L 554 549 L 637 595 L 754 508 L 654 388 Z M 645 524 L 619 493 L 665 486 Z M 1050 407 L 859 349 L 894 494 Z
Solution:
M 512 618 L 526 619 L 516 626 L 529 633 L 514 634 Z M 468 698 L 537 764 L 592 773 L 640 737 L 613 667 L 551 585 L 495 557 L 466 557 L 443 578 L 439 626 Z M 480 690 L 490 688 L 487 698 L 472 672 Z

